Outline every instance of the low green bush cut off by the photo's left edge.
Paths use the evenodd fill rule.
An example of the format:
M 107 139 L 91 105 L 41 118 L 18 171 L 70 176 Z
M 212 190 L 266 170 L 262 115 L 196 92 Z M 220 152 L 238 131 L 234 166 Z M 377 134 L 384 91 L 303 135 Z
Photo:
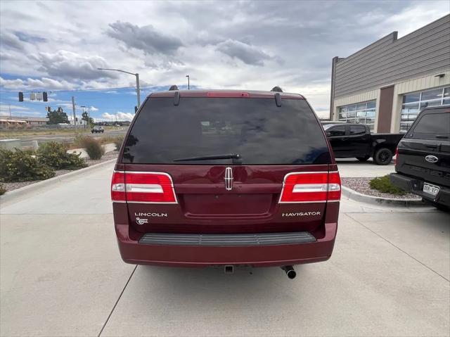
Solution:
M 0 150 L 0 182 L 29 182 L 54 176 L 55 171 L 37 160 L 32 151 Z

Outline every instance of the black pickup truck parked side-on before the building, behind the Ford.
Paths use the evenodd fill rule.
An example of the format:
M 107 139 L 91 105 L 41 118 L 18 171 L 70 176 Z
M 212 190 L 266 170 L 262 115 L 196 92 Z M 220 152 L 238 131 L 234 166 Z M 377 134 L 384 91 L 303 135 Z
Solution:
M 330 140 L 335 158 L 356 158 L 366 161 L 373 158 L 377 165 L 392 161 L 395 148 L 404 134 L 371 134 L 363 124 L 329 123 L 323 125 Z

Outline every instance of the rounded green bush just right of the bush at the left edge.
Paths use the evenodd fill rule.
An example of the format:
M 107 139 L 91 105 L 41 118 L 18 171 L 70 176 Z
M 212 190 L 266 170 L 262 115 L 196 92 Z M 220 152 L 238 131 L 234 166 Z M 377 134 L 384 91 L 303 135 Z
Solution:
M 87 166 L 83 158 L 79 158 L 79 154 L 67 151 L 67 145 L 49 141 L 39 147 L 37 155 L 41 163 L 55 170 L 77 170 Z

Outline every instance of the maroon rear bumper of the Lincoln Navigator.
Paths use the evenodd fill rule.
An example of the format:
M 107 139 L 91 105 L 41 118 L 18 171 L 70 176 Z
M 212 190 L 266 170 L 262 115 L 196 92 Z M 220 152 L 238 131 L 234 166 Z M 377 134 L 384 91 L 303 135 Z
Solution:
M 122 260 L 135 265 L 207 267 L 251 265 L 271 267 L 326 261 L 333 253 L 337 223 L 325 224 L 325 236 L 315 242 L 259 246 L 195 246 L 143 244 L 129 238 L 129 226 L 116 224 Z

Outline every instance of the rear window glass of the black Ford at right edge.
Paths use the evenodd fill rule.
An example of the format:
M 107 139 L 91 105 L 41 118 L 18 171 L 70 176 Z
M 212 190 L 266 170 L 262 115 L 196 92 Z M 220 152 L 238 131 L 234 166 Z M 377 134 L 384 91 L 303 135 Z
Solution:
M 436 139 L 438 135 L 450 136 L 450 113 L 427 113 L 415 124 L 407 138 Z

